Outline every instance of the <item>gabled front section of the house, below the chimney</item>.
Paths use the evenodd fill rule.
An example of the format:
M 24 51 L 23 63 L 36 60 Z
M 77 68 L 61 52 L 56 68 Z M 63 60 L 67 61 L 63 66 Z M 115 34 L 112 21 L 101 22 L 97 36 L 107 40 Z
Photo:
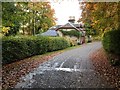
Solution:
M 55 30 L 57 31 L 59 36 L 66 37 L 67 39 L 71 40 L 75 44 L 77 43 L 82 44 L 85 42 L 85 30 L 81 24 L 74 24 L 74 23 L 68 22 L 65 25 L 60 26 L 59 28 L 56 28 Z M 80 36 L 77 37 L 75 35 L 73 36 L 64 35 L 63 31 L 68 31 L 68 32 L 76 31 L 77 33 L 80 34 Z

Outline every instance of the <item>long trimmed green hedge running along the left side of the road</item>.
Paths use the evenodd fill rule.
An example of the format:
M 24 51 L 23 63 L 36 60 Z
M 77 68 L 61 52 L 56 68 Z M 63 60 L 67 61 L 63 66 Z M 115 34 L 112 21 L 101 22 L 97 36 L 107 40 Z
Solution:
M 11 63 L 69 46 L 70 43 L 60 37 L 4 37 L 2 39 L 2 63 Z

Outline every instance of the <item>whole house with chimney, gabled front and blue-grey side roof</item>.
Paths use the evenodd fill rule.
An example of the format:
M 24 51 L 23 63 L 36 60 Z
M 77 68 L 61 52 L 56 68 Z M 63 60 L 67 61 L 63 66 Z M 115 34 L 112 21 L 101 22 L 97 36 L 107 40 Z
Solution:
M 83 44 L 85 42 L 84 25 L 76 24 L 74 17 L 70 17 L 68 23 L 65 25 L 53 26 L 47 32 L 44 32 L 41 35 L 65 37 L 66 39 L 72 41 L 74 44 Z

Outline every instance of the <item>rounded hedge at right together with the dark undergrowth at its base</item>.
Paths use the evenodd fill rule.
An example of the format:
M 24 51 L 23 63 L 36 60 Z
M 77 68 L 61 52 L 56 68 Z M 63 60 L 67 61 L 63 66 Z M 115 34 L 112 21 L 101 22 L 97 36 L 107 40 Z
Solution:
M 103 36 L 103 47 L 108 52 L 112 65 L 120 65 L 120 30 L 106 32 Z

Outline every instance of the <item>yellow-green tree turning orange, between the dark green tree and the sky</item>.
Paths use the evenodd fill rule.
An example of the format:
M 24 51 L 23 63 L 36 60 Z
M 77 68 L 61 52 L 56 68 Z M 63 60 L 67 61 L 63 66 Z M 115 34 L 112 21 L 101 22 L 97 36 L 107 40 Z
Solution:
M 51 9 L 49 2 L 29 2 L 27 7 L 25 6 L 26 18 L 24 23 L 28 24 L 27 32 L 32 35 L 44 32 L 51 26 L 55 25 L 54 10 Z M 28 11 L 28 12 L 27 12 Z

